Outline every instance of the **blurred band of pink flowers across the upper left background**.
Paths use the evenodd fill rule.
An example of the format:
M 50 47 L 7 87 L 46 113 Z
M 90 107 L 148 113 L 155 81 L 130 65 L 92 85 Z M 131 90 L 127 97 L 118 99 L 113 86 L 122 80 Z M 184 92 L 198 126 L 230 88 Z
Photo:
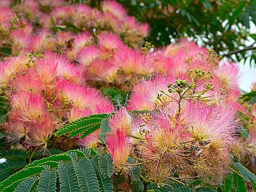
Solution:
M 103 1 L 98 9 L 85 4 L 70 5 L 62 0 L 54 3 L 1 1 L 0 4 L 0 40 L 3 44 L 0 46 L 10 48 L 13 54 L 47 50 L 65 52 L 74 41 L 74 49 L 70 52 L 73 57 L 91 35 L 102 31 L 122 36 L 126 44 L 138 48 L 149 29 L 147 24 L 140 24 L 135 17 L 129 16 L 119 3 L 109 0 Z M 111 48 L 106 45 L 108 42 L 103 44 Z

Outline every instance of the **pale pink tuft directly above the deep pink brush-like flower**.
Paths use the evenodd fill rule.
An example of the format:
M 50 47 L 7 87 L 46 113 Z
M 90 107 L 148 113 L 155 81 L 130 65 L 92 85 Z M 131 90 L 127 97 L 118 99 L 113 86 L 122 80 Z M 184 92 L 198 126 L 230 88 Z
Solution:
M 125 108 L 121 108 L 109 121 L 112 132 L 120 129 L 129 136 L 132 129 L 132 117 Z

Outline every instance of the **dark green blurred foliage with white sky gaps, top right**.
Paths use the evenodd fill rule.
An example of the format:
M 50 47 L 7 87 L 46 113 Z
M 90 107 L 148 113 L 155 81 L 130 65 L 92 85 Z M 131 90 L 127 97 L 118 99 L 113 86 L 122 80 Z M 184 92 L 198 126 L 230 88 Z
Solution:
M 151 26 L 148 41 L 168 45 L 188 36 L 235 61 L 250 59 L 255 66 L 256 1 L 119 0 L 131 15 Z M 255 30 L 255 27 L 254 27 Z M 248 46 L 246 41 L 250 39 Z M 231 55 L 234 57 L 231 58 Z

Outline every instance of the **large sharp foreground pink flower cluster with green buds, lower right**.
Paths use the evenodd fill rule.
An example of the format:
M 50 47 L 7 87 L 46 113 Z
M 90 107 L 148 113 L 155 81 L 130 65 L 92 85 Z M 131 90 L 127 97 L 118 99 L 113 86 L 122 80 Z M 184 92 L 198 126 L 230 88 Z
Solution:
M 167 83 L 166 83 L 167 82 Z M 117 169 L 128 170 L 129 156 L 145 167 L 147 180 L 163 183 L 174 175 L 181 178 L 200 178 L 208 182 L 222 182 L 229 170 L 229 152 L 237 143 L 238 108 L 229 102 L 221 105 L 195 99 L 183 91 L 190 91 L 184 80 L 160 76 L 150 83 L 145 102 L 152 102 L 152 113 L 130 115 L 120 109 L 110 119 L 111 132 L 106 146 Z M 158 88 L 152 86 L 158 86 Z M 165 97 L 157 92 L 169 88 Z M 145 90 L 143 90 L 145 91 Z M 164 91 L 162 91 L 164 93 Z M 182 97 L 180 97 L 183 95 Z M 131 167 L 130 167 L 131 168 Z

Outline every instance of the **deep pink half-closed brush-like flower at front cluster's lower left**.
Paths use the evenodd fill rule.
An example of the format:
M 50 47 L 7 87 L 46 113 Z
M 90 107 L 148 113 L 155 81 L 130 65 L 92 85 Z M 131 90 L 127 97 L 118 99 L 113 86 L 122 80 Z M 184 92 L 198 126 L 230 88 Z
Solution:
M 114 160 L 114 165 L 117 168 L 122 168 L 128 160 L 132 150 L 132 144 L 129 138 L 125 137 L 125 133 L 121 129 L 111 132 L 106 137 L 106 147 Z

